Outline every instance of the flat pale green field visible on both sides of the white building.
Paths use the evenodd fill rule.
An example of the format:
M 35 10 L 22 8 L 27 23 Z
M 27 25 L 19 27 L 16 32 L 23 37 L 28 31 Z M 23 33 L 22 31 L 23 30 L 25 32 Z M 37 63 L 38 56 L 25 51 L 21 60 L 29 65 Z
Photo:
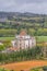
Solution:
M 15 37 L 0 37 L 0 40 L 13 40 Z M 37 42 L 47 42 L 47 36 L 36 36 Z

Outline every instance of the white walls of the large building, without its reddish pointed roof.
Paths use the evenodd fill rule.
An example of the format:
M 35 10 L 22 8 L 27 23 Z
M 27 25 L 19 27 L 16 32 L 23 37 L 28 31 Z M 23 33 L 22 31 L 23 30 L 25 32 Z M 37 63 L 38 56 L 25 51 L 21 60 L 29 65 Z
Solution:
M 32 48 L 33 46 L 35 46 L 36 45 L 36 40 L 35 40 L 35 38 L 34 37 L 31 37 L 30 35 L 27 35 L 27 36 L 22 36 L 22 39 L 21 40 L 17 40 L 17 39 L 20 39 L 21 38 L 21 36 L 20 35 L 17 35 L 16 36 L 16 40 L 12 40 L 12 45 L 13 45 L 13 47 L 15 47 L 15 43 L 16 43 L 16 47 L 17 48 L 22 48 L 22 49 L 24 49 L 24 48 Z M 24 38 L 25 38 L 25 40 L 24 40 Z M 20 45 L 21 44 L 21 45 Z

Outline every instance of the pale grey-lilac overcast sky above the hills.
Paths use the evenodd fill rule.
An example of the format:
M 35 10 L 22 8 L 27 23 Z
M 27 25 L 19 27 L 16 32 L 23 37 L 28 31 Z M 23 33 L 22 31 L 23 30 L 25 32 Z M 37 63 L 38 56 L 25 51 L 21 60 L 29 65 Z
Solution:
M 0 0 L 0 11 L 47 13 L 47 0 Z

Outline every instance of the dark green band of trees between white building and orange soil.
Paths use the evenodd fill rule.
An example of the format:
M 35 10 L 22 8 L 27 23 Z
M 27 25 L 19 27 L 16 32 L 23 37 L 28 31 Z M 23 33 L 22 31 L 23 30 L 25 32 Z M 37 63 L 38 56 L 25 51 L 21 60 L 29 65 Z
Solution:
M 0 52 L 0 63 L 9 63 L 14 61 L 24 61 L 32 59 L 42 59 L 44 57 L 40 47 L 33 47 L 20 51 Z

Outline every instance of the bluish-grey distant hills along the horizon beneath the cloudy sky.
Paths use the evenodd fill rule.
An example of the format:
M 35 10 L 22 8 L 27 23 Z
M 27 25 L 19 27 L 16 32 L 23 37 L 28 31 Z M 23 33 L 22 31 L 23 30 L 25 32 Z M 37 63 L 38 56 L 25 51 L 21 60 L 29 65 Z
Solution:
M 9 16 L 44 16 L 46 14 L 36 14 L 36 13 L 20 13 L 20 12 L 0 12 L 0 17 L 9 17 Z

